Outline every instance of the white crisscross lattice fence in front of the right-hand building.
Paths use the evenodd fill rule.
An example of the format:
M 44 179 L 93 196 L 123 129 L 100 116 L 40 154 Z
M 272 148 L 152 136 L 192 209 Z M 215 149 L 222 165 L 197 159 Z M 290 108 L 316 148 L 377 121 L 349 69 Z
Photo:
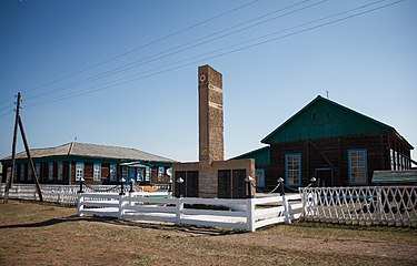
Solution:
M 417 186 L 300 188 L 304 221 L 417 226 Z

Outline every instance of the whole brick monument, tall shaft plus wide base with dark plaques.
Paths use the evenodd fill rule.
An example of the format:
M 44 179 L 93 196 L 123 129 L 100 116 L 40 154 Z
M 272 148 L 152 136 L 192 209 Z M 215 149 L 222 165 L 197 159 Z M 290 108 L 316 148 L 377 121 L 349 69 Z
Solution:
M 210 65 L 199 66 L 198 94 L 199 162 L 172 164 L 175 195 L 221 198 L 254 196 L 255 187 L 250 186 L 249 192 L 245 181 L 248 176 L 255 177 L 254 160 L 224 160 L 221 73 Z

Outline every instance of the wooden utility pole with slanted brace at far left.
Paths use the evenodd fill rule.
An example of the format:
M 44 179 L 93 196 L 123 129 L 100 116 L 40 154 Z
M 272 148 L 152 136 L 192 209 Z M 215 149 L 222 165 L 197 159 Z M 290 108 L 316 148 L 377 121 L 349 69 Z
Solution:
M 12 165 L 11 165 L 11 174 L 10 175 L 7 175 L 6 177 L 6 186 L 4 186 L 4 198 L 3 198 L 3 202 L 4 203 L 8 203 L 9 201 L 9 190 L 11 187 L 11 181 L 13 180 L 14 177 L 14 172 L 16 172 L 16 142 L 18 140 L 18 125 L 20 127 L 20 134 L 22 135 L 22 139 L 23 139 L 23 144 L 24 144 L 24 150 L 26 150 L 26 154 L 28 156 L 28 160 L 29 160 L 29 163 L 30 163 L 30 167 L 31 167 L 31 172 L 32 174 L 34 175 L 34 184 L 37 185 L 37 191 L 38 191 L 38 195 L 39 195 L 39 201 L 40 202 L 43 202 L 43 197 L 42 197 L 42 192 L 40 190 L 40 185 L 39 185 L 39 180 L 38 180 L 38 174 L 37 174 L 37 170 L 34 167 L 34 164 L 33 164 L 33 160 L 30 155 L 30 151 L 29 151 L 29 145 L 28 145 L 28 141 L 26 139 L 26 134 L 24 134 L 24 129 L 23 129 L 23 123 L 22 123 L 22 120 L 20 117 L 20 103 L 21 103 L 21 94 L 20 92 L 18 92 L 18 100 L 17 100 L 17 108 L 16 108 L 16 121 L 14 121 L 14 132 L 13 132 L 13 144 L 12 144 L 12 154 L 11 154 L 11 161 L 12 161 Z

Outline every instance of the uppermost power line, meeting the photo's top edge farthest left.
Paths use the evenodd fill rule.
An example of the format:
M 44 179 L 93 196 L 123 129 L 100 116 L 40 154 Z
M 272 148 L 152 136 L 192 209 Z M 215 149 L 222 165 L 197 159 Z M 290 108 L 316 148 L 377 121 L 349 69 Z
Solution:
M 119 59 L 119 58 L 126 57 L 126 55 L 128 55 L 128 54 L 130 54 L 130 53 L 133 53 L 133 52 L 140 50 L 140 49 L 143 49 L 143 48 L 150 47 L 150 45 L 152 45 L 152 44 L 155 44 L 155 43 L 158 43 L 158 42 L 163 41 L 163 40 L 167 40 L 167 39 L 169 39 L 169 38 L 171 38 L 171 37 L 178 35 L 178 34 L 180 34 L 180 33 L 182 33 L 182 32 L 186 32 L 186 31 L 191 30 L 191 29 L 193 29 L 193 28 L 197 28 L 197 27 L 199 27 L 199 25 L 201 25 L 201 24 L 205 24 L 205 23 L 207 23 L 207 22 L 210 22 L 210 21 L 212 21 L 212 20 L 216 20 L 216 19 L 218 19 L 218 18 L 221 18 L 221 17 L 224 17 L 224 16 L 226 16 L 226 14 L 229 14 L 229 13 L 232 13 L 232 12 L 235 12 L 235 11 L 238 11 L 238 10 L 240 10 L 240 9 L 242 9 L 242 8 L 246 8 L 246 7 L 250 6 L 250 4 L 254 4 L 254 3 L 258 2 L 258 1 L 260 1 L 260 0 L 255 0 L 255 1 L 247 2 L 247 3 L 242 4 L 242 6 L 239 6 L 239 7 L 237 7 L 237 8 L 231 9 L 231 10 L 225 11 L 225 12 L 222 12 L 222 13 L 219 13 L 219 14 L 215 16 L 215 17 L 211 17 L 211 18 L 209 18 L 209 19 L 202 20 L 202 21 L 200 21 L 200 22 L 198 22 L 198 23 L 196 23 L 196 24 L 192 24 L 192 25 L 186 27 L 186 28 L 183 28 L 183 29 L 181 29 L 181 30 L 178 30 L 178 31 L 176 31 L 176 32 L 172 32 L 172 33 L 170 33 L 170 34 L 168 34 L 168 35 L 165 35 L 165 37 L 158 38 L 158 39 L 156 39 L 156 40 L 153 40 L 153 41 L 150 41 L 150 42 L 148 42 L 148 43 L 146 43 L 146 44 L 142 44 L 142 45 L 137 47 L 137 48 L 135 48 L 135 49 L 128 50 L 128 51 L 126 51 L 126 52 L 123 52 L 123 53 L 120 53 L 120 54 L 118 54 L 118 55 L 115 55 L 115 57 L 108 58 L 108 59 L 106 59 L 106 60 L 103 60 L 103 61 L 101 61 L 101 62 L 98 62 L 98 63 L 95 63 L 95 64 L 92 64 L 92 65 L 89 65 L 89 66 L 87 66 L 87 68 L 85 68 L 85 69 L 81 69 L 81 70 L 79 70 L 79 71 L 76 71 L 76 72 L 73 72 L 73 73 L 71 73 L 71 74 L 67 74 L 67 75 L 61 76 L 61 78 L 59 78 L 59 79 L 57 79 L 57 80 L 53 80 L 53 81 L 50 81 L 50 82 L 43 83 L 43 84 L 41 84 L 41 85 L 38 85 L 38 86 L 36 86 L 36 88 L 29 89 L 29 90 L 26 91 L 26 93 L 31 92 L 31 91 L 34 91 L 34 90 L 38 90 L 38 89 L 40 89 L 40 88 L 44 88 L 44 86 L 49 86 L 49 85 L 56 84 L 56 83 L 59 82 L 59 81 L 62 81 L 62 80 L 66 80 L 66 79 L 68 79 L 68 78 L 71 78 L 71 76 L 78 75 L 78 74 L 80 74 L 80 73 L 83 73 L 83 72 L 86 72 L 86 71 L 88 71 L 88 70 L 91 70 L 91 69 L 95 69 L 95 68 L 97 68 L 97 66 L 99 66 L 99 65 L 106 64 L 106 63 L 108 63 L 108 62 L 110 62 L 110 61 L 113 61 L 113 60 L 116 60 L 116 59 Z

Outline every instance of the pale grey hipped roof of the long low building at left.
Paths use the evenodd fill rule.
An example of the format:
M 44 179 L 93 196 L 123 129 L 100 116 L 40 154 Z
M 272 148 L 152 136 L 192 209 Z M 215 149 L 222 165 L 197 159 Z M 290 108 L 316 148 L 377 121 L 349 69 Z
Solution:
M 33 149 L 30 150 L 30 155 L 33 158 L 50 157 L 50 156 L 81 156 L 81 157 L 99 157 L 113 158 L 123 161 L 146 161 L 146 162 L 175 162 L 171 158 L 158 156 L 151 153 L 142 152 L 130 147 L 107 146 L 98 144 L 88 144 L 71 142 L 57 147 Z M 16 158 L 26 158 L 26 152 L 20 152 Z M 11 160 L 11 156 L 2 160 Z

